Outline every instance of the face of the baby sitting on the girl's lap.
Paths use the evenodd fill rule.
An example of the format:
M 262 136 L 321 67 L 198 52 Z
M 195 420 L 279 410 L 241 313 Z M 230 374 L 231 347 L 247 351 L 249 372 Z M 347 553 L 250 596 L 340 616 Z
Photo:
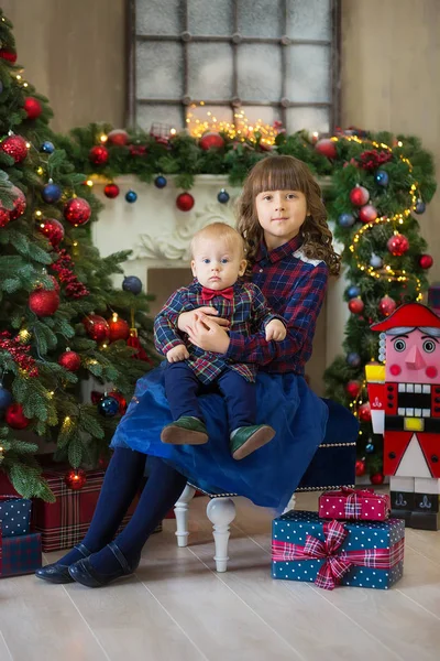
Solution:
M 224 239 L 200 238 L 194 248 L 191 269 L 202 286 L 220 291 L 243 275 L 246 260 L 240 245 Z

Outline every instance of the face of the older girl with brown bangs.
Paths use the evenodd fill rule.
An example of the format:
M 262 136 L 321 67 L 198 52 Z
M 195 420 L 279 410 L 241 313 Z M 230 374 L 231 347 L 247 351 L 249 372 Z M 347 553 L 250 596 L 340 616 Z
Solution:
M 296 237 L 307 216 L 306 196 L 299 191 L 263 191 L 255 207 L 270 250 Z

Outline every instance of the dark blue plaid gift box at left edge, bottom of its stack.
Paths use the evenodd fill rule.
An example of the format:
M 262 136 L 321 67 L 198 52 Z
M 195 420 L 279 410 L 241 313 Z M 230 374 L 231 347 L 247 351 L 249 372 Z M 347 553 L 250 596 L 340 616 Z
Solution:
M 41 534 L 21 534 L 3 538 L 1 577 L 33 574 L 42 566 Z

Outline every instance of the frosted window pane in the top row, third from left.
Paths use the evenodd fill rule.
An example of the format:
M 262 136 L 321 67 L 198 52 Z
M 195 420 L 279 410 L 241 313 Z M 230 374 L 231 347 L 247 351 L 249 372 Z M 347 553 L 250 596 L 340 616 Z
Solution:
M 243 36 L 284 34 L 282 2 L 279 0 L 240 0 L 239 32 Z

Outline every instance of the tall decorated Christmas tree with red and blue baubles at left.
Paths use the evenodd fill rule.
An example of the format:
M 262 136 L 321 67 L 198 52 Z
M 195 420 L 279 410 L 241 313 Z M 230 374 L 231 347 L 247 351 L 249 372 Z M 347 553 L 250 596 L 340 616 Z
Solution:
M 96 465 L 153 364 L 152 322 L 138 278 L 112 285 L 129 252 L 101 259 L 91 245 L 99 203 L 15 64 L 1 10 L 0 42 L 0 468 L 24 497 L 51 500 L 33 438 L 56 442 L 74 480 Z M 89 377 L 102 384 L 95 403 L 81 401 Z

